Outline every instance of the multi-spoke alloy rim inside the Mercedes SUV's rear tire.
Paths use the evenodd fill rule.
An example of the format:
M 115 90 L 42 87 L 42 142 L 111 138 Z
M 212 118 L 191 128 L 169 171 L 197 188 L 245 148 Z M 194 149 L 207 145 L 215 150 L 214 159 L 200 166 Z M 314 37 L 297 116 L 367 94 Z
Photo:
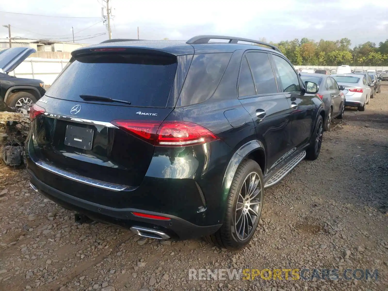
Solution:
M 256 229 L 262 209 L 262 185 L 258 173 L 251 172 L 241 186 L 236 203 L 234 228 L 237 237 L 244 240 Z

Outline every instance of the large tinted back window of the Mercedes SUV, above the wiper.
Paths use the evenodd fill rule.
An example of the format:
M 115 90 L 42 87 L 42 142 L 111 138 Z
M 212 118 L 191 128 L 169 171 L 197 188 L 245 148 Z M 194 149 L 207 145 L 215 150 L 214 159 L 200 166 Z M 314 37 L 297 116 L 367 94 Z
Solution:
M 166 107 L 176 70 L 175 56 L 87 55 L 72 59 L 46 95 L 74 101 L 92 95 L 129 101 L 131 106 Z

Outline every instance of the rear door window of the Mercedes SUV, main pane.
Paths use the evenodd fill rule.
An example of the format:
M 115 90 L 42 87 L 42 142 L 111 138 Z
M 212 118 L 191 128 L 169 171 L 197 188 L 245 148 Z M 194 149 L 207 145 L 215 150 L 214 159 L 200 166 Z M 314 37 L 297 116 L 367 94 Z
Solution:
M 249 67 L 253 74 L 257 94 L 277 93 L 274 71 L 269 61 L 268 54 L 262 52 L 248 52 L 246 54 Z

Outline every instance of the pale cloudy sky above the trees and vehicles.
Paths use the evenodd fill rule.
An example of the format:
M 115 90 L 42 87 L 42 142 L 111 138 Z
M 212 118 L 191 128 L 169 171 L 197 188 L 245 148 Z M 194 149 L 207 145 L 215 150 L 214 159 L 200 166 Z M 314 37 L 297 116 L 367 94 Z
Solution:
M 303 37 L 319 41 L 349 38 L 351 48 L 388 39 L 388 1 L 364 0 L 110 0 L 113 38 L 187 40 L 195 35 L 227 35 L 267 42 Z M 108 39 L 103 0 L 13 0 L 0 2 L 0 25 L 11 36 L 98 43 Z M 30 16 L 18 12 L 41 14 Z M 66 17 L 47 17 L 66 16 Z M 95 17 L 95 18 L 68 18 Z M 106 33 L 94 37 L 99 33 Z M 0 38 L 8 30 L 0 26 Z M 87 38 L 87 39 L 85 39 Z

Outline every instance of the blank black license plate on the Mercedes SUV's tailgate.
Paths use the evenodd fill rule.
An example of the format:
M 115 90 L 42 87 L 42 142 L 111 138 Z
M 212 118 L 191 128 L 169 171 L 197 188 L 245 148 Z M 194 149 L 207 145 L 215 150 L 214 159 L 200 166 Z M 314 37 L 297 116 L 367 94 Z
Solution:
M 64 144 L 78 149 L 92 149 L 94 130 L 79 126 L 67 125 Z

